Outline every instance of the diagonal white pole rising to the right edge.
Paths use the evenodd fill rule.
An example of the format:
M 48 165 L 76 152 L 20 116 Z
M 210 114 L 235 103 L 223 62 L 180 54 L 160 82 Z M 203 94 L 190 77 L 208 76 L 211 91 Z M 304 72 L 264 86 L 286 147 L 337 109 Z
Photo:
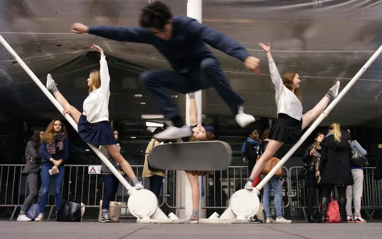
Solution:
M 329 106 L 324 110 L 324 113 L 321 113 L 321 115 L 314 121 L 311 127 L 305 132 L 305 134 L 297 141 L 295 145 L 289 151 L 282 157 L 280 162 L 273 168 L 261 182 L 256 186 L 256 189 L 260 191 L 264 185 L 275 175 L 275 173 L 284 165 L 284 163 L 292 156 L 292 154 L 301 146 L 301 144 L 307 139 L 308 136 L 312 134 L 312 132 L 317 128 L 317 126 L 322 122 L 322 120 L 325 119 L 325 115 L 329 114 L 330 111 L 338 104 L 338 102 L 341 101 L 341 99 L 346 95 L 346 93 L 350 90 L 350 88 L 357 82 L 359 77 L 367 70 L 367 68 L 370 67 L 370 65 L 378 58 L 378 56 L 382 52 L 382 45 L 378 50 L 373 54 L 373 56 L 366 62 L 366 64 L 354 75 L 354 77 L 347 83 L 345 88 L 338 94 L 337 98 L 333 100 L 329 104 Z

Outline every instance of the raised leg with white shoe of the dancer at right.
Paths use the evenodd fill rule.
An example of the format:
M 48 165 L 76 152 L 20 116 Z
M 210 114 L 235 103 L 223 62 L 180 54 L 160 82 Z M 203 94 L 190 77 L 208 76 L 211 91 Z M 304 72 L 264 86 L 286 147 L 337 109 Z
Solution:
M 325 110 L 326 106 L 328 106 L 328 103 L 332 97 L 334 99 L 338 96 L 339 89 L 340 89 L 340 81 L 337 81 L 336 84 L 329 89 L 328 93 L 326 93 L 324 98 L 322 98 L 321 101 L 318 102 L 313 107 L 313 109 L 309 110 L 303 115 L 303 125 L 301 127 L 303 130 L 312 122 L 312 120 L 315 117 L 317 117 L 322 111 Z

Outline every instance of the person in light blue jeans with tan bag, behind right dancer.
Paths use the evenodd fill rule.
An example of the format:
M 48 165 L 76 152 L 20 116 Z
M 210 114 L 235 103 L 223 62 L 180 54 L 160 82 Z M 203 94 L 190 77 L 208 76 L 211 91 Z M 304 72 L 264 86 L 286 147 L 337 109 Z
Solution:
M 271 129 L 266 129 L 263 133 L 263 137 L 261 139 L 261 145 L 259 149 L 259 158 L 261 157 L 261 154 L 265 152 L 265 149 L 267 148 L 269 139 L 269 133 L 271 132 Z M 273 156 L 274 158 L 279 158 L 277 154 Z M 272 159 L 271 159 L 272 160 Z M 271 162 L 271 161 L 269 161 Z M 267 169 L 267 165 L 264 167 L 263 171 L 261 172 L 261 177 L 265 177 L 266 171 L 271 171 L 272 167 L 269 167 Z M 266 170 L 266 171 L 264 171 Z M 282 173 L 282 169 L 281 169 Z M 265 217 L 266 221 L 265 223 L 291 223 L 291 220 L 287 220 L 282 216 L 281 206 L 282 206 L 282 188 L 280 183 L 280 172 L 277 172 L 265 185 L 264 185 L 264 193 L 263 193 L 263 204 L 264 204 L 264 211 L 265 211 Z M 275 195 L 275 207 L 276 207 L 276 221 L 272 218 L 271 210 L 270 210 L 270 201 L 271 201 L 271 191 L 273 188 L 273 192 Z

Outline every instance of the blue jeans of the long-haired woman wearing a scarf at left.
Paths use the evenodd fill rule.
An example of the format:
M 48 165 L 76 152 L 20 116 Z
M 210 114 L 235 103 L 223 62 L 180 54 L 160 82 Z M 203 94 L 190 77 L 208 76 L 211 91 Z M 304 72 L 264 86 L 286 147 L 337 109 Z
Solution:
M 59 173 L 54 175 L 49 175 L 49 170 L 52 169 L 50 165 L 41 166 L 41 197 L 40 197 L 40 213 L 43 214 L 45 211 L 46 203 L 48 202 L 49 190 L 50 190 L 50 181 L 53 178 L 54 183 L 54 198 L 56 203 L 56 213 L 58 207 L 62 202 L 61 189 L 62 182 L 64 181 L 65 168 L 64 165 L 61 165 L 58 168 Z

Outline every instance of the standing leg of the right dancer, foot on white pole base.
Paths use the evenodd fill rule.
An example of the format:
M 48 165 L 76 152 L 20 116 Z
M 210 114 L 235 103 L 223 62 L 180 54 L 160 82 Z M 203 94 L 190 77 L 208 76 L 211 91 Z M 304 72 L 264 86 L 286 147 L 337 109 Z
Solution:
M 248 178 L 248 181 L 245 183 L 244 188 L 248 190 L 252 190 L 252 183 L 255 178 L 260 174 L 263 170 L 264 166 L 267 162 L 273 157 L 273 155 L 278 151 L 283 142 L 279 142 L 273 139 L 269 139 L 267 148 L 265 152 L 261 155 L 260 159 L 256 162 L 255 167 L 253 168 L 251 175 Z

